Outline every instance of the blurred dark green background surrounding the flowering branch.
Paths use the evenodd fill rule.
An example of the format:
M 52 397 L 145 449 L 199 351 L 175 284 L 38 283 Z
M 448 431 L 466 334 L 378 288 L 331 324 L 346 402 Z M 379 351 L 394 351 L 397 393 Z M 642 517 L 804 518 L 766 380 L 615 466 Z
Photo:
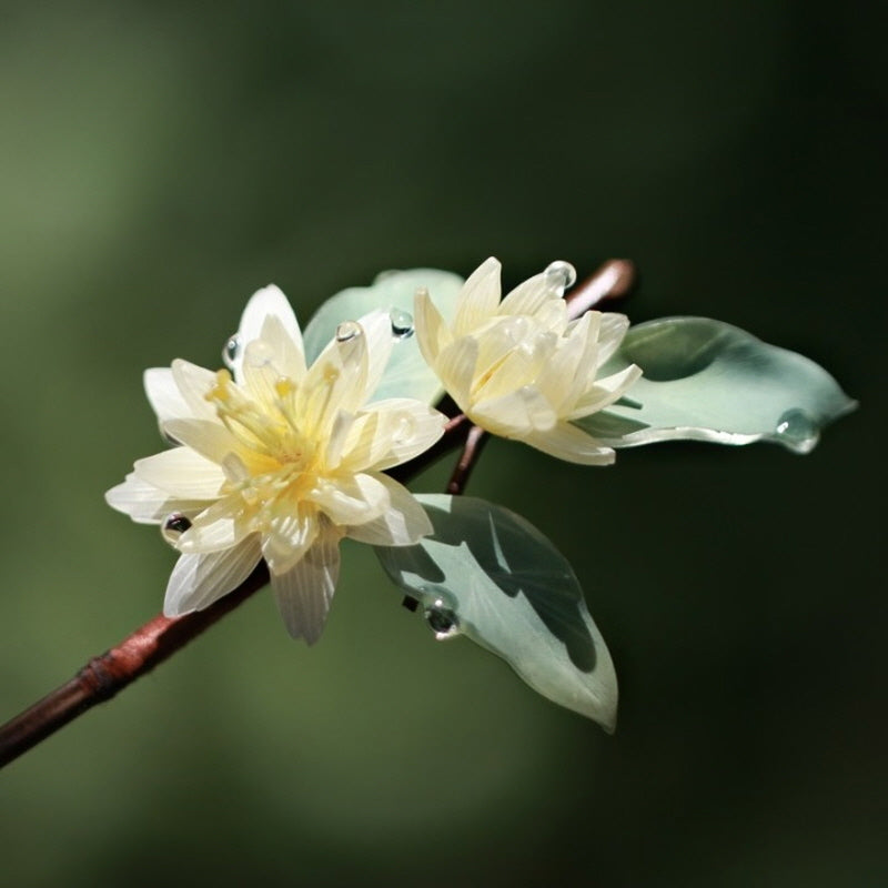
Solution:
M 0 7 L 0 705 L 161 605 L 105 488 L 159 448 L 147 366 L 218 366 L 387 268 L 610 256 L 861 402 L 799 458 L 493 442 L 471 492 L 567 555 L 613 737 L 436 644 L 345 555 L 322 642 L 268 593 L 0 775 L 16 886 L 882 886 L 888 78 L 857 3 Z M 446 466 L 415 485 L 437 490 Z

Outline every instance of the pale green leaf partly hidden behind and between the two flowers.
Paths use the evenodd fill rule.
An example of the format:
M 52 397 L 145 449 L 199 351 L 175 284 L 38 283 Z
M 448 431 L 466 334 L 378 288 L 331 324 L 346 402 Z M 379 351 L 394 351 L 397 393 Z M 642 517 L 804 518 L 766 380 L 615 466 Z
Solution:
M 444 393 L 434 371 L 425 363 L 413 335 L 413 296 L 420 287 L 428 290 L 438 311 L 453 314 L 463 279 L 435 269 L 389 271 L 371 286 L 351 286 L 331 296 L 315 312 L 303 333 L 305 356 L 311 363 L 336 333 L 343 321 L 356 321 L 377 309 L 390 312 L 395 347 L 373 397 L 415 397 L 431 404 Z

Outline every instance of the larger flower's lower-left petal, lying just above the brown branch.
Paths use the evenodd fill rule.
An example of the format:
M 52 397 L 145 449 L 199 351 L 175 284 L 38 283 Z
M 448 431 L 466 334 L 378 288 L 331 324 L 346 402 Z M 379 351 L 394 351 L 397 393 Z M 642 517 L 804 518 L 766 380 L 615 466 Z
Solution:
M 233 592 L 253 573 L 261 557 L 255 534 L 223 552 L 180 555 L 167 584 L 164 616 L 178 617 L 202 610 Z

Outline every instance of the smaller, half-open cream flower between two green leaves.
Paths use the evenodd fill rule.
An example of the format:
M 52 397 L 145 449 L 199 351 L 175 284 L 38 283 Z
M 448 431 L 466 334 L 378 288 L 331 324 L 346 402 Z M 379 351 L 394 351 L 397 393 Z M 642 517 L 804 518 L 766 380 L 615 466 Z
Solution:
M 617 401 L 640 376 L 634 364 L 602 379 L 629 322 L 610 312 L 568 319 L 573 269 L 553 263 L 500 301 L 500 263 L 465 282 L 448 325 L 427 293 L 415 300 L 423 356 L 472 422 L 572 463 L 606 464 L 614 451 L 576 425 Z

